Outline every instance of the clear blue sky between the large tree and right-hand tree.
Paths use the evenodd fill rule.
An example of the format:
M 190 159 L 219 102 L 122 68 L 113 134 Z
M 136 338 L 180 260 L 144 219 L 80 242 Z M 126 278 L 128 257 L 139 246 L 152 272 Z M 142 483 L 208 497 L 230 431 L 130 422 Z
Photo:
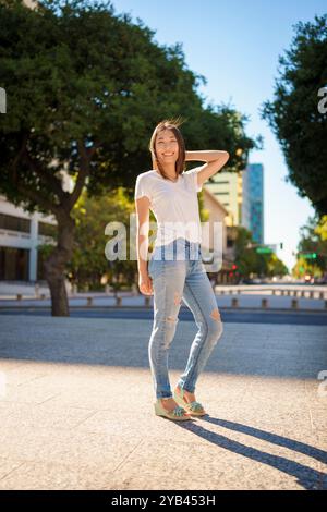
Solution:
M 155 31 L 158 44 L 182 42 L 187 66 L 207 78 L 207 85 L 198 88 L 205 105 L 230 103 L 250 117 L 247 135 L 263 135 L 264 149 L 252 151 L 250 163 L 264 164 L 265 243 L 283 242 L 277 254 L 290 269 L 299 229 L 314 209 L 286 183 L 283 155 L 258 109 L 272 99 L 278 56 L 290 47 L 293 25 L 326 13 L 326 0 L 113 0 L 112 4 L 116 14 L 129 12 L 135 23 L 140 17 Z

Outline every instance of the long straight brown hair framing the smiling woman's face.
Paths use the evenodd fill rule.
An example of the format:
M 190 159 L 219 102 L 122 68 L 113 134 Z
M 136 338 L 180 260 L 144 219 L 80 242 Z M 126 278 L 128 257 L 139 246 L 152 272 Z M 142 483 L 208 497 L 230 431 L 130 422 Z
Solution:
M 181 174 L 185 170 L 185 143 L 179 130 L 179 126 L 182 123 L 183 121 L 181 121 L 180 119 L 165 119 L 164 121 L 160 121 L 155 127 L 149 142 L 148 148 L 152 153 L 153 169 L 157 169 L 160 172 L 161 176 L 168 180 L 169 176 L 165 173 L 162 166 L 160 164 L 159 159 L 157 157 L 155 143 L 158 133 L 162 132 L 164 130 L 171 130 L 173 132 L 179 145 L 179 157 L 175 161 L 175 176 L 178 178 L 179 174 Z

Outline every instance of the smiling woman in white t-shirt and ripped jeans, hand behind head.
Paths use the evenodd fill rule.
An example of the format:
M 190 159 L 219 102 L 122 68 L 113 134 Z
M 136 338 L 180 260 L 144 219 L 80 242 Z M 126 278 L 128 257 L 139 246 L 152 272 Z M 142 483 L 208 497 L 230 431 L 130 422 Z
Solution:
M 156 126 L 149 144 L 154 169 L 136 179 L 136 247 L 140 290 L 145 295 L 154 295 L 148 355 L 157 399 L 155 413 L 169 419 L 186 420 L 206 414 L 195 399 L 195 385 L 222 334 L 216 297 L 202 263 L 197 192 L 226 164 L 229 154 L 185 151 L 178 126 L 174 120 L 161 121 Z M 185 160 L 206 163 L 183 172 Z M 147 264 L 149 209 L 156 217 L 157 236 Z M 182 298 L 193 313 L 198 331 L 172 394 L 168 351 Z

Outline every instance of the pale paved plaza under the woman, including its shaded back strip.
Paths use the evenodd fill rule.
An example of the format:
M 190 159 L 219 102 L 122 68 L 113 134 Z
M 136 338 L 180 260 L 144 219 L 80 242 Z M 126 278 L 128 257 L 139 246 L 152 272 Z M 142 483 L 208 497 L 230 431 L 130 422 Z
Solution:
M 183 424 L 154 414 L 150 331 L 1 315 L 0 489 L 327 489 L 326 327 L 225 324 L 209 415 Z M 179 321 L 172 387 L 195 332 Z

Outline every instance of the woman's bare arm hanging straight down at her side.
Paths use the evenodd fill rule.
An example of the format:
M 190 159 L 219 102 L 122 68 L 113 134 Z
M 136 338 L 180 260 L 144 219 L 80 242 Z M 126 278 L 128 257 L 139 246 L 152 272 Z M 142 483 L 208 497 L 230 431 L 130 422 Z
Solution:
M 138 288 L 144 295 L 153 295 L 153 283 L 147 270 L 149 205 L 147 196 L 135 199 Z

